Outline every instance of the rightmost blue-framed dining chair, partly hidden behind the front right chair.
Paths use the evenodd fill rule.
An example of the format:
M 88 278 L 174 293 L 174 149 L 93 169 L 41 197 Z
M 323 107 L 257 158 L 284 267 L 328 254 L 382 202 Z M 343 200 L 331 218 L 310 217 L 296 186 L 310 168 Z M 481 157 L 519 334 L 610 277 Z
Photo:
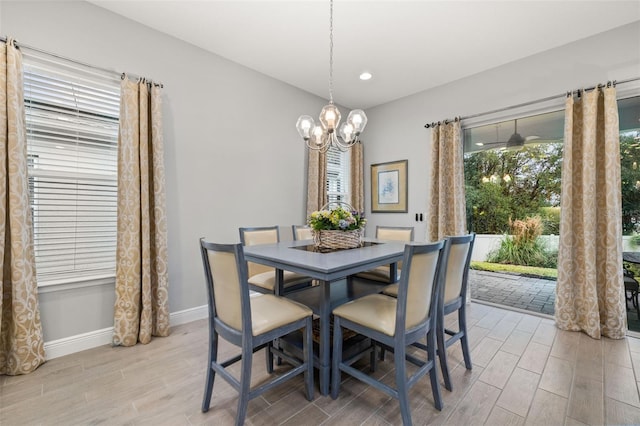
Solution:
M 444 386 L 452 390 L 449 367 L 447 364 L 447 348 L 458 340 L 462 346 L 462 356 L 467 370 L 471 370 L 471 353 L 467 333 L 467 286 L 469 279 L 469 264 L 476 234 L 447 237 L 450 246 L 447 268 L 444 274 L 444 286 L 438 303 L 438 357 L 444 379 Z M 458 312 L 458 331 L 445 328 L 444 318 Z

